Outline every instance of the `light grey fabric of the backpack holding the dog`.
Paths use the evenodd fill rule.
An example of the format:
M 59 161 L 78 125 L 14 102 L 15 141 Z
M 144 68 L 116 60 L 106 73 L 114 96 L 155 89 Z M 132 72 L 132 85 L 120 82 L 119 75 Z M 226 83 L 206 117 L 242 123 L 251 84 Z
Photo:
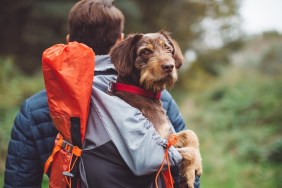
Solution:
M 109 56 L 96 56 L 95 74 L 99 71 L 109 70 L 114 70 Z M 95 149 L 100 149 L 103 145 L 112 142 L 122 158 L 121 161 L 124 161 L 133 173 L 132 176 L 143 177 L 155 174 L 163 162 L 167 140 L 160 137 L 148 119 L 138 109 L 118 97 L 107 94 L 109 82 L 115 79 L 116 76 L 113 74 L 106 76 L 97 74 L 94 77 L 91 108 L 83 147 L 84 153 L 90 154 Z M 99 150 L 96 151 L 99 152 Z M 89 156 L 96 155 L 97 152 Z M 108 156 L 108 158 L 111 157 Z M 89 185 L 91 177 L 87 172 L 91 170 L 87 169 L 89 167 L 88 158 L 85 154 L 80 163 L 82 187 L 92 187 Z M 179 165 L 182 157 L 174 147 L 171 147 L 169 159 L 170 164 L 174 166 Z M 165 165 L 164 169 L 166 168 Z M 111 171 L 111 169 L 108 170 Z M 95 181 L 99 185 L 97 183 L 99 179 Z M 101 181 L 107 182 L 107 179 L 101 179 Z M 105 187 L 109 185 L 105 185 Z M 147 187 L 153 187 L 154 181 L 147 185 Z M 124 187 L 124 185 L 121 187 Z M 159 187 L 162 186 L 159 185 Z

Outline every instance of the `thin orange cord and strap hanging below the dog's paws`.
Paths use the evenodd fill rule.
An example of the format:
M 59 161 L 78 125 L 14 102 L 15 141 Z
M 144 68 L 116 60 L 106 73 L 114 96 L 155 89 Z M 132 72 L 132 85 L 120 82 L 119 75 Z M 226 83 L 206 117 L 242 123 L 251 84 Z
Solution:
M 164 167 L 164 164 L 165 162 L 167 162 L 167 170 L 162 172 L 162 175 L 164 177 L 164 182 L 165 182 L 165 186 L 166 188 L 173 188 L 173 178 L 172 178 L 172 175 L 171 175 L 171 171 L 170 171 L 170 163 L 169 163 L 169 156 L 168 156 L 168 149 L 173 145 L 175 144 L 177 141 L 177 137 L 174 136 L 174 135 L 171 135 L 168 140 L 167 140 L 167 146 L 166 146 L 166 149 L 165 149 L 165 154 L 164 154 L 164 160 L 162 162 L 162 165 L 156 175 L 156 178 L 155 178 L 155 186 L 156 188 L 158 188 L 158 177 L 160 175 L 160 173 L 162 172 L 163 170 L 163 167 Z

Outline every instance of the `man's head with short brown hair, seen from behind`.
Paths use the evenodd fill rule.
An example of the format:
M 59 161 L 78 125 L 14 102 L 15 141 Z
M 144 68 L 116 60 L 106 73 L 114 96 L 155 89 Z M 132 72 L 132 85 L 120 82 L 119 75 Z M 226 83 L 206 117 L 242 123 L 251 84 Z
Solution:
M 69 12 L 69 41 L 91 47 L 97 55 L 108 54 L 123 37 L 124 15 L 113 0 L 81 0 Z

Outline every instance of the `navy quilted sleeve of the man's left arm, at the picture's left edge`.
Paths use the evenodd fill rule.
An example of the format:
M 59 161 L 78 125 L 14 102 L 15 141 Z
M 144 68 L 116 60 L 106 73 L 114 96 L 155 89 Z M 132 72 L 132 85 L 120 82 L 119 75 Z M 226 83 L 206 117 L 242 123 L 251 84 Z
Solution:
M 21 106 L 8 146 L 4 187 L 41 187 L 43 169 L 33 138 L 28 100 Z

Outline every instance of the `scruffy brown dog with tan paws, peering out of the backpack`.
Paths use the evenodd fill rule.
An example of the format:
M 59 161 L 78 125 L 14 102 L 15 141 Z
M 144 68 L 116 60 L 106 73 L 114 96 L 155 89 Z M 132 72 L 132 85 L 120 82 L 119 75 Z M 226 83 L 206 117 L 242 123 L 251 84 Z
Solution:
M 158 133 L 167 138 L 173 133 L 171 124 L 156 96 L 160 96 L 163 89 L 171 88 L 178 79 L 177 70 L 184 62 L 178 44 L 164 31 L 132 34 L 114 46 L 110 56 L 118 72 L 117 83 L 145 90 L 144 95 L 119 89 L 113 91 L 113 94 L 139 109 Z M 195 174 L 200 176 L 202 173 L 198 138 L 191 130 L 175 135 L 177 143 L 174 146 L 179 148 L 184 159 L 182 176 L 186 178 L 187 185 L 193 188 Z

